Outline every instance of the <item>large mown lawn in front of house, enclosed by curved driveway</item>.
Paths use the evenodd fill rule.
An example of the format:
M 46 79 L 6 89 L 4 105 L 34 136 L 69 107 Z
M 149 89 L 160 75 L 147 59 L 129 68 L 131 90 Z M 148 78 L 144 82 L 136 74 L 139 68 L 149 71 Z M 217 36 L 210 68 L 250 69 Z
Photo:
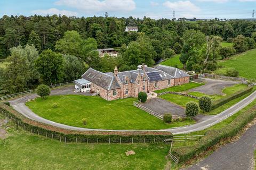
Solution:
M 91 129 L 158 130 L 194 123 L 187 120 L 166 124 L 133 106 L 134 100 L 137 99 L 107 101 L 98 96 L 64 95 L 50 96 L 46 100 L 36 98 L 26 105 L 48 120 Z M 54 103 L 57 108 L 52 107 Z M 87 120 L 86 125 L 82 123 L 83 118 Z

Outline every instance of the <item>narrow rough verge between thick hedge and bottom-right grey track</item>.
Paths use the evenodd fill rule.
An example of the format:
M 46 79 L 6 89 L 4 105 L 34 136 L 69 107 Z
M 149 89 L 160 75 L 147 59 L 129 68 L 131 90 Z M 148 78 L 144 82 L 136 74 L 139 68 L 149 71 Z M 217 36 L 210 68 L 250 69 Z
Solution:
M 214 145 L 213 147 L 207 149 L 207 151 L 202 152 L 199 155 L 194 156 L 192 159 L 188 160 L 187 162 L 183 163 L 183 165 L 179 166 L 179 169 L 189 167 L 190 165 L 196 164 L 200 160 L 203 160 L 205 157 L 209 156 L 214 152 L 215 150 L 218 150 L 220 147 L 227 145 L 228 143 L 233 143 L 240 139 L 241 135 L 245 133 L 249 128 L 251 128 L 253 125 L 256 124 L 256 118 L 249 124 L 245 126 L 235 137 L 232 138 L 226 138 L 222 139 L 217 145 Z M 205 167 L 207 169 L 207 167 Z

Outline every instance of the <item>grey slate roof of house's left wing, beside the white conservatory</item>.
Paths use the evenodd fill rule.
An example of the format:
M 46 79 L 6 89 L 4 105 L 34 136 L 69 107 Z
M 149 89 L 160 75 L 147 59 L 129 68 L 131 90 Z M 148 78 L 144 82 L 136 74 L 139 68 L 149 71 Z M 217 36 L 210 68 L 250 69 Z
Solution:
M 114 77 L 114 73 L 102 73 L 92 68 L 88 69 L 83 75 L 83 79 L 86 79 L 106 90 L 114 90 L 120 88 L 117 80 Z

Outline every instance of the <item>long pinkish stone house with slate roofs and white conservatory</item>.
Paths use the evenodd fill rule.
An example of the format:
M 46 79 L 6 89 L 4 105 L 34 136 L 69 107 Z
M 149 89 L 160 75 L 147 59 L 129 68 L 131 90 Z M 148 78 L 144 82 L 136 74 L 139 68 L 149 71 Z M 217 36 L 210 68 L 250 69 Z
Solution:
M 75 88 L 81 92 L 97 92 L 106 100 L 137 97 L 140 91 L 149 92 L 178 86 L 189 82 L 189 74 L 174 67 L 144 64 L 137 70 L 102 73 L 90 68 L 82 79 L 75 80 Z

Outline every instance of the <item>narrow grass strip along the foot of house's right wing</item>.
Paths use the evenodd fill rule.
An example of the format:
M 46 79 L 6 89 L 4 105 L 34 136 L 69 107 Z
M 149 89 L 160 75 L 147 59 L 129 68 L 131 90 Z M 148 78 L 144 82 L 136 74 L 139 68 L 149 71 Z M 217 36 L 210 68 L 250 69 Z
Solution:
M 179 92 L 179 91 L 186 91 L 189 89 L 193 89 L 199 86 L 203 86 L 204 83 L 198 84 L 198 83 L 194 83 L 194 82 L 189 82 L 187 84 L 183 84 L 181 86 L 172 86 L 163 90 L 156 90 L 155 92 L 157 94 L 161 93 L 161 92 L 165 92 L 165 91 L 173 91 L 173 92 Z

